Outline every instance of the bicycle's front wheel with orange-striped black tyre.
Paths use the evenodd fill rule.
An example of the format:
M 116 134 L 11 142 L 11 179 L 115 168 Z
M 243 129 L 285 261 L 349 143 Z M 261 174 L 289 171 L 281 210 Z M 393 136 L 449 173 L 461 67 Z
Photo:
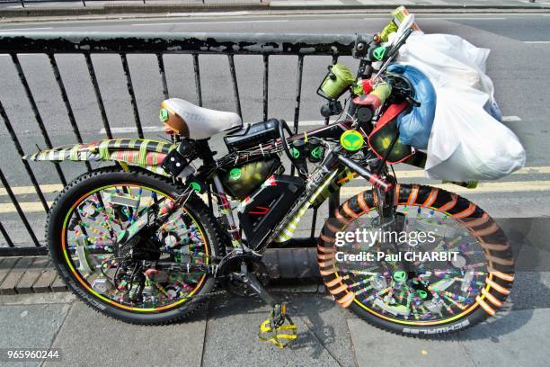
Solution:
M 433 232 L 434 240 L 419 245 L 404 235 L 365 246 L 356 237 L 342 239 L 339 233 L 384 234 L 373 192 L 359 192 L 325 223 L 317 246 L 334 299 L 376 327 L 404 335 L 448 333 L 494 315 L 514 279 L 501 228 L 470 201 L 430 186 L 397 185 L 395 204 L 403 233 Z

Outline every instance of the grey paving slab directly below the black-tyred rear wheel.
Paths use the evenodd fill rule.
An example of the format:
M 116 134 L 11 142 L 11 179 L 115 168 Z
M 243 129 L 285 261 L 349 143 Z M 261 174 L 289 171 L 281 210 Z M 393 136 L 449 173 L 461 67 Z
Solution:
M 205 310 L 182 323 L 147 327 L 121 322 L 75 302 L 52 347 L 67 366 L 199 367 L 205 336 Z M 58 366 L 45 363 L 44 366 Z

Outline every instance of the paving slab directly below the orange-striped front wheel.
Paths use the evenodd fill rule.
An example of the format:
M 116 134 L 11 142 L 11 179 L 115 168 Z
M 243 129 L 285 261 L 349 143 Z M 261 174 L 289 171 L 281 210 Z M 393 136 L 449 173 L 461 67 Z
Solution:
M 359 367 L 475 367 L 456 336 L 445 340 L 397 336 L 359 318 L 348 319 L 348 327 Z

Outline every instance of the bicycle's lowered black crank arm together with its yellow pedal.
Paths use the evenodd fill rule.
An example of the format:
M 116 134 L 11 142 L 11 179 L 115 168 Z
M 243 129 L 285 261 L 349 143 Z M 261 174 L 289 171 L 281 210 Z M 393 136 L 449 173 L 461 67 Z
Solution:
M 256 275 L 248 272 L 246 264 L 241 265 L 241 276 L 248 288 L 271 307 L 270 318 L 260 324 L 259 339 L 262 342 L 271 342 L 280 349 L 296 340 L 297 327 L 287 314 L 287 303 L 275 300 Z

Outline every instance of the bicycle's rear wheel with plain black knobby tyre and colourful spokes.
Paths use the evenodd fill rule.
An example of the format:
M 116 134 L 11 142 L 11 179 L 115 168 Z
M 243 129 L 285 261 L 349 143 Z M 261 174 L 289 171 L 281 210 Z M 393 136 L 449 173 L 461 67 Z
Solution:
M 68 288 L 93 309 L 131 323 L 189 315 L 213 289 L 208 265 L 222 251 L 206 205 L 191 196 L 155 233 L 125 246 L 118 240 L 144 210 L 160 215 L 179 193 L 137 169 L 103 168 L 69 183 L 47 223 L 49 255 Z

